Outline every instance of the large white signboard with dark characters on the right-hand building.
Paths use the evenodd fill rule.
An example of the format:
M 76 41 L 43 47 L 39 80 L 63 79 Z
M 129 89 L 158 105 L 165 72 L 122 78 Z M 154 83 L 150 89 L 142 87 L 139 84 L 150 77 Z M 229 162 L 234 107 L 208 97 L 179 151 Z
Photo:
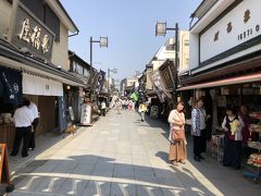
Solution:
M 200 33 L 200 62 L 203 65 L 243 50 L 243 54 L 250 53 L 253 51 L 250 48 L 260 45 L 261 1 L 235 1 L 234 4 Z

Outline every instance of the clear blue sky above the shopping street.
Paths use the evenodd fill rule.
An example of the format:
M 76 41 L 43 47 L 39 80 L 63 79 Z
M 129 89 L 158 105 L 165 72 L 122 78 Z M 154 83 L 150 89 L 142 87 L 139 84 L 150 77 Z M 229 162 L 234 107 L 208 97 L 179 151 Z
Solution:
M 190 14 L 201 0 L 61 0 L 79 28 L 79 35 L 70 38 L 70 49 L 89 63 L 89 38 L 108 36 L 109 47 L 94 44 L 94 66 L 107 71 L 116 68 L 114 78 L 122 79 L 144 71 L 158 49 L 174 32 L 156 37 L 157 21 L 166 21 L 167 27 L 178 22 L 188 29 Z

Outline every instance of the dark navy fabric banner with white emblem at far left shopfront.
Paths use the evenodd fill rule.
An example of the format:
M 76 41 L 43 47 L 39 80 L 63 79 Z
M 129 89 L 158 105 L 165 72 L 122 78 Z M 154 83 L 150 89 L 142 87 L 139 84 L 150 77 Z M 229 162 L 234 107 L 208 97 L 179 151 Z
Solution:
M 3 100 L 7 103 L 22 102 L 22 72 L 0 66 Z

